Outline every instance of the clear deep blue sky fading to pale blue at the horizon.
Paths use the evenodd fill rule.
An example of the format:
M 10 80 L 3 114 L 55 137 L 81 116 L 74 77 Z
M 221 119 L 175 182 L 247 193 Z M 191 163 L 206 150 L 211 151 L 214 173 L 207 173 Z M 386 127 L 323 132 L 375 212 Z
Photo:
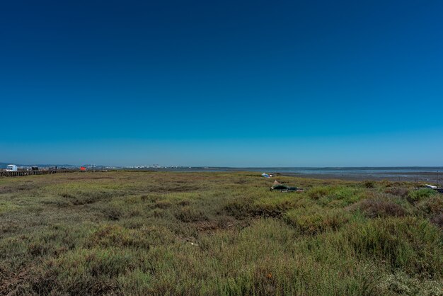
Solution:
M 443 1 L 69 2 L 0 6 L 0 161 L 443 165 Z

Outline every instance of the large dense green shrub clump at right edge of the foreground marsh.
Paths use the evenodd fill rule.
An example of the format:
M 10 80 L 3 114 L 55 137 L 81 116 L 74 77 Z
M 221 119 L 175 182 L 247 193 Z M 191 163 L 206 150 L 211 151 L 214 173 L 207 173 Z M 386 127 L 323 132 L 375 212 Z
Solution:
M 348 225 L 347 237 L 357 254 L 410 274 L 443 275 L 443 237 L 430 222 L 389 217 Z

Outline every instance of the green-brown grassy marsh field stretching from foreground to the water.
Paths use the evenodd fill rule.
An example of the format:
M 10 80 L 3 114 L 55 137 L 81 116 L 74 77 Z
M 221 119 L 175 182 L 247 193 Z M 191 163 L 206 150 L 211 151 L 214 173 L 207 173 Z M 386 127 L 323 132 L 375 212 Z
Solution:
M 0 178 L 0 295 L 443 295 L 443 195 L 277 179 Z

